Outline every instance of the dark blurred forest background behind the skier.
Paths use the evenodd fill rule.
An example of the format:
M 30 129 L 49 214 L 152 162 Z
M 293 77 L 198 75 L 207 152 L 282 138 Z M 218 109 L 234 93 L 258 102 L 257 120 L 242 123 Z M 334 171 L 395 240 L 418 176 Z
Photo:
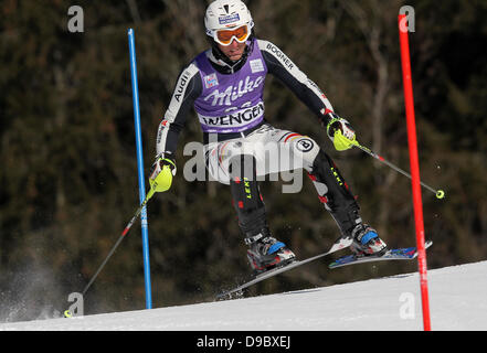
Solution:
M 428 268 L 487 258 L 487 2 L 246 1 L 258 38 L 278 45 L 352 122 L 358 140 L 409 170 L 398 13 L 410 33 Z M 71 6 L 84 32 L 67 30 Z M 205 1 L 0 1 L 0 321 L 51 318 L 93 276 L 138 204 L 127 29 L 136 35 L 146 175 L 158 124 L 183 65 L 208 46 Z M 315 116 L 268 77 L 266 117 L 309 135 L 335 159 L 362 217 L 390 247 L 415 244 L 411 182 L 359 150 L 337 152 Z M 250 268 L 227 186 L 187 182 L 186 143 L 173 188 L 149 203 L 153 307 L 211 301 Z M 299 258 L 338 228 L 304 178 L 300 193 L 264 182 L 271 229 Z M 85 313 L 145 308 L 140 223 L 85 298 Z M 337 255 L 338 256 L 338 255 Z M 318 261 L 250 291 L 265 295 L 392 276 L 417 264 L 328 270 Z

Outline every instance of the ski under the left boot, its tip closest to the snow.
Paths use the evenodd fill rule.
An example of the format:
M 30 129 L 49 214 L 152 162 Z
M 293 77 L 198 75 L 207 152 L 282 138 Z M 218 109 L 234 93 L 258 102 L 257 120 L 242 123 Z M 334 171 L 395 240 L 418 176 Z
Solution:
M 276 267 L 276 268 L 269 269 L 269 270 L 267 270 L 265 272 L 262 272 L 262 274 L 258 274 L 256 276 L 253 276 L 253 278 L 251 280 L 244 282 L 243 285 L 241 285 L 239 287 L 235 287 L 235 288 L 233 288 L 231 290 L 226 290 L 226 291 L 224 291 L 224 292 L 222 292 L 220 295 L 216 295 L 216 299 L 219 300 L 219 299 L 223 299 L 225 297 L 231 297 L 231 295 L 233 295 L 235 292 L 239 292 L 239 291 L 241 291 L 241 290 L 243 290 L 243 289 L 245 289 L 247 287 L 251 287 L 251 286 L 253 286 L 255 284 L 258 284 L 258 282 L 261 282 L 261 281 L 263 281 L 263 280 L 265 280 L 267 278 L 277 276 L 277 275 L 286 272 L 286 271 L 288 271 L 288 270 L 290 270 L 293 268 L 296 268 L 296 267 L 299 267 L 301 265 L 305 265 L 305 264 L 311 263 L 314 260 L 317 260 L 317 259 L 319 259 L 321 257 L 325 257 L 325 256 L 327 256 L 329 254 L 332 254 L 335 252 L 345 249 L 346 247 L 349 247 L 351 244 L 352 244 L 352 238 L 351 237 L 340 237 L 340 238 L 338 238 L 334 243 L 334 245 L 330 247 L 330 249 L 328 252 L 319 254 L 319 255 L 316 255 L 314 257 L 309 257 L 309 258 L 304 259 L 304 260 L 294 260 L 294 261 L 290 261 L 288 264 L 285 264 L 283 266 L 280 266 L 280 267 Z

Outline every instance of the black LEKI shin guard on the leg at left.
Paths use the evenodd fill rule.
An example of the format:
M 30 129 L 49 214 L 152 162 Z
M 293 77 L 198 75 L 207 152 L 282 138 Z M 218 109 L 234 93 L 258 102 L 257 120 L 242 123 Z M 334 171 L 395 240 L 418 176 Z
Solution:
M 239 225 L 244 234 L 257 234 L 266 225 L 265 206 L 258 190 L 255 158 L 235 156 L 230 160 L 230 189 Z M 252 234 L 253 235 L 253 234 Z

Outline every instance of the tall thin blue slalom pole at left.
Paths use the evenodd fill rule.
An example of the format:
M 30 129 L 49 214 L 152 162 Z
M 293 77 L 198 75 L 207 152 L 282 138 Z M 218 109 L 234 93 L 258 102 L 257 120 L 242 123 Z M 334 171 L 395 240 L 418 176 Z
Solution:
M 139 178 L 139 197 L 140 204 L 146 199 L 146 184 L 144 176 L 144 156 L 142 156 L 142 137 L 140 132 L 140 107 L 139 107 L 139 88 L 137 84 L 137 61 L 135 53 L 134 30 L 128 29 L 128 47 L 130 51 L 130 72 L 131 72 L 131 93 L 134 100 L 134 120 L 137 143 L 137 170 Z M 150 285 L 150 261 L 149 261 L 149 231 L 147 222 L 147 208 L 144 206 L 140 213 L 142 226 L 142 252 L 144 252 L 144 280 L 146 286 L 146 309 L 152 309 L 152 295 Z

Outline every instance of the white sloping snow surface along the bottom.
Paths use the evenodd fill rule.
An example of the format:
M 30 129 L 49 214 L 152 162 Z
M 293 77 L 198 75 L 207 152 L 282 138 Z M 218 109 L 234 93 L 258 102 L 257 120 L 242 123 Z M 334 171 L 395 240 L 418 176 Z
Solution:
M 432 330 L 487 330 L 487 261 L 428 270 Z M 417 272 L 254 298 L 1 323 L 0 331 L 420 331 Z

